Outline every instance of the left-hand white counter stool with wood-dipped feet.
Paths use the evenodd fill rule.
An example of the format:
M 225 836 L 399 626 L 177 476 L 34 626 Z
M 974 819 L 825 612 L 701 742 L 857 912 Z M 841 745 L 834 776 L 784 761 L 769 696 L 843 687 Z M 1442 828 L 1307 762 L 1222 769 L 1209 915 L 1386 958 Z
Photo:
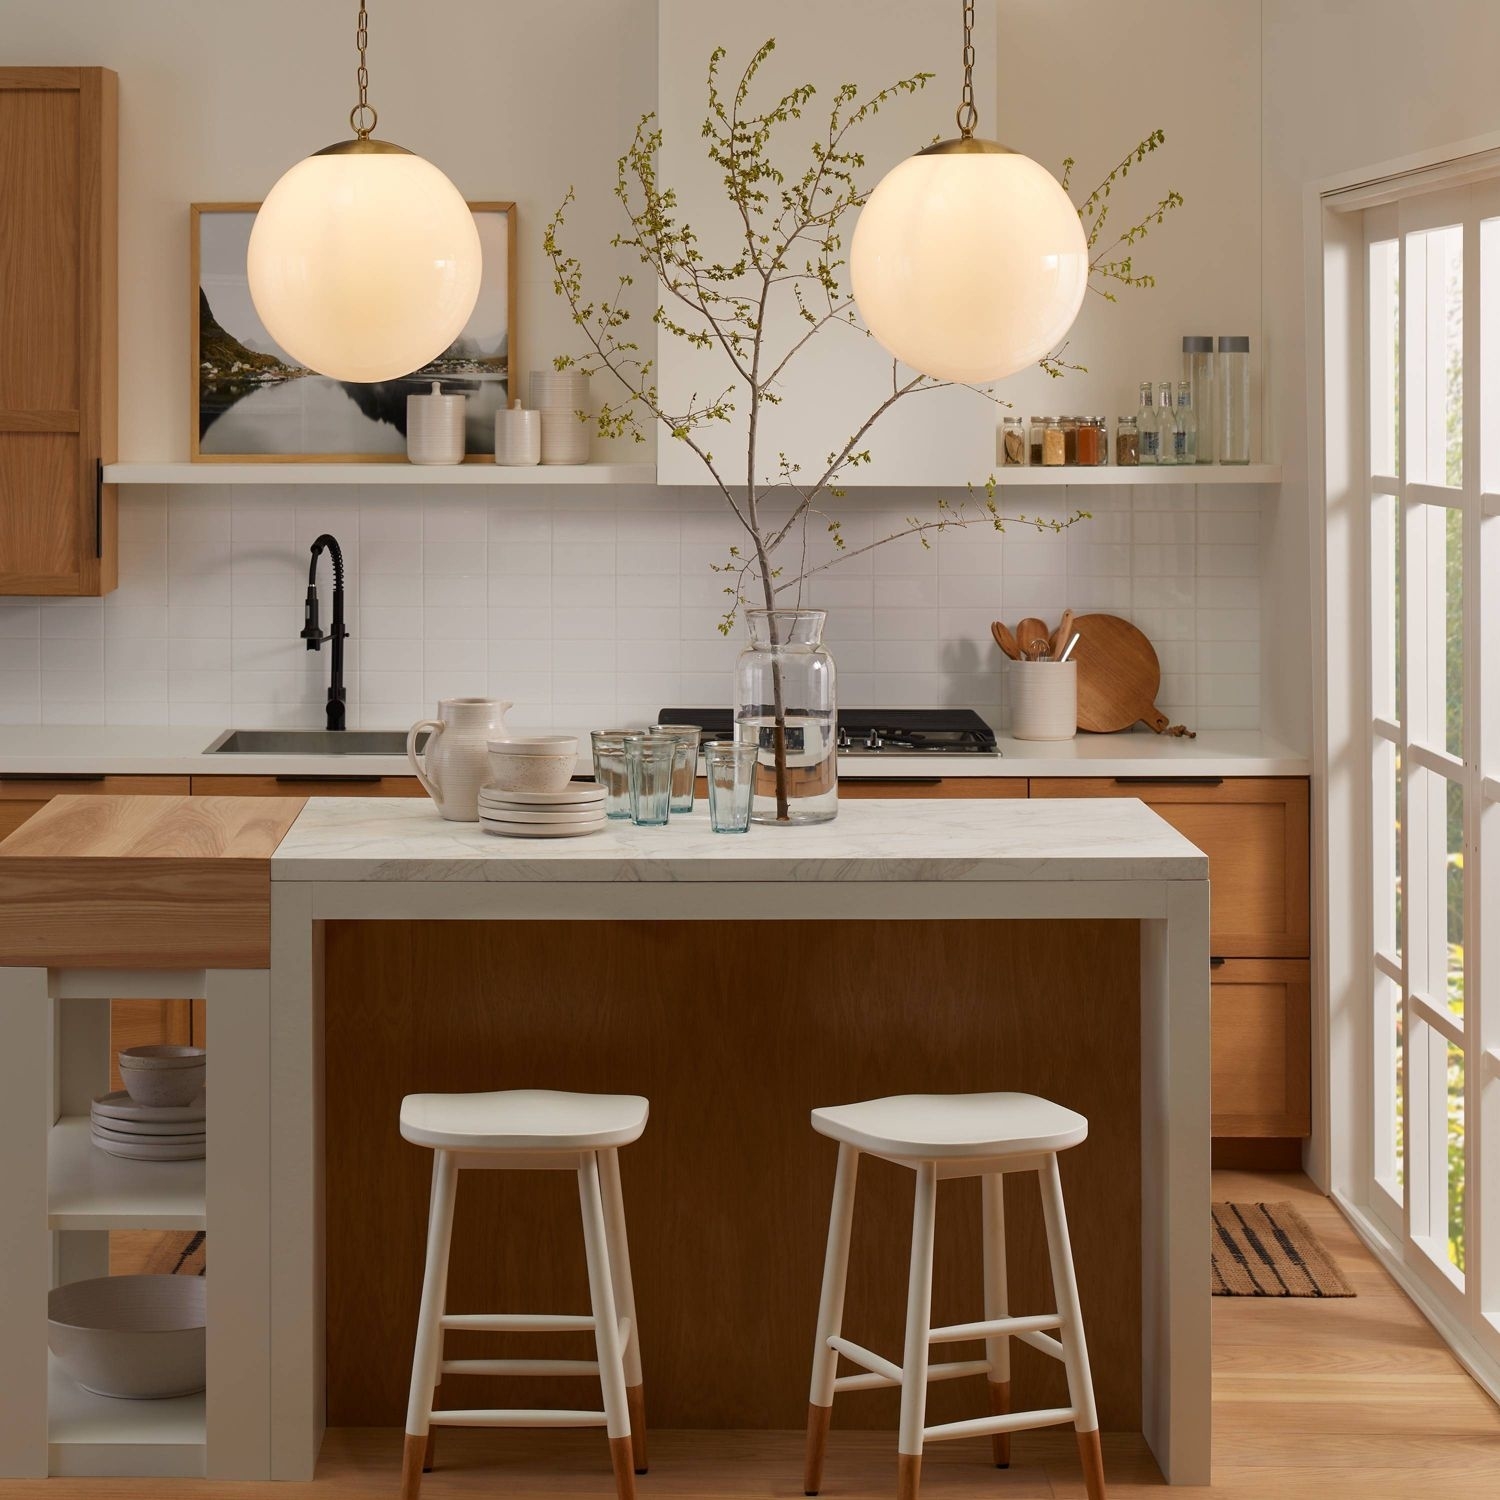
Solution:
M 636 1326 L 626 1208 L 620 1192 L 620 1146 L 646 1126 L 646 1101 L 621 1094 L 556 1094 L 512 1089 L 501 1094 L 410 1094 L 400 1101 L 400 1134 L 434 1148 L 432 1206 L 428 1215 L 428 1264 L 422 1312 L 411 1359 L 402 1500 L 417 1500 L 424 1468 L 432 1467 L 435 1426 L 603 1426 L 620 1500 L 633 1500 L 633 1473 L 646 1472 L 645 1390 Z M 591 1311 L 447 1312 L 448 1245 L 460 1168 L 576 1172 L 584 1209 Z M 448 1329 L 488 1332 L 591 1332 L 596 1359 L 442 1358 Z M 603 1412 L 477 1410 L 434 1412 L 442 1376 L 590 1376 L 597 1374 Z

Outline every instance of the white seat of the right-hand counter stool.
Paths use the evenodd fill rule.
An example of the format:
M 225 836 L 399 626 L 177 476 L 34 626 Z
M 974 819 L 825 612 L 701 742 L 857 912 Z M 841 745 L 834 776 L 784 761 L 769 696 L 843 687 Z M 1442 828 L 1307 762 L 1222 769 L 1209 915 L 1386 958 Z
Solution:
M 878 1156 L 938 1161 L 1065 1150 L 1089 1122 L 1034 1094 L 896 1094 L 813 1110 L 813 1130 Z

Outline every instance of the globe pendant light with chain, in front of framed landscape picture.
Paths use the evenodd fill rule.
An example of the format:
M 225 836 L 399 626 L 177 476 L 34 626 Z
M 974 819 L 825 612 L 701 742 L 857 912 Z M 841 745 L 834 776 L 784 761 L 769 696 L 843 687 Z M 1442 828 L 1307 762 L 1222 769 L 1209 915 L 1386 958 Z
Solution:
M 370 135 L 360 0 L 352 141 L 297 162 L 250 230 L 250 298 L 296 360 L 342 381 L 410 375 L 464 330 L 478 300 L 478 230 L 429 160 Z

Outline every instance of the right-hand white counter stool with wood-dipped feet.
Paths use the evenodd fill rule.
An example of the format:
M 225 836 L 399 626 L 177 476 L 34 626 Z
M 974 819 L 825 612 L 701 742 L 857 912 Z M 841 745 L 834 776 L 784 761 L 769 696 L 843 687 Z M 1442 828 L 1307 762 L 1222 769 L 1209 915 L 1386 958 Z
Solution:
M 916 1500 L 921 1484 L 922 1443 L 945 1437 L 990 1436 L 994 1462 L 1010 1464 L 1010 1434 L 1028 1426 L 1071 1422 L 1078 1432 L 1083 1479 L 1089 1500 L 1104 1500 L 1104 1462 L 1100 1420 L 1094 1408 L 1089 1354 L 1083 1342 L 1078 1287 L 1072 1275 L 1068 1221 L 1062 1209 L 1058 1152 L 1077 1146 L 1089 1122 L 1060 1104 L 1029 1094 L 906 1094 L 862 1104 L 813 1110 L 813 1130 L 838 1142 L 834 1203 L 828 1221 L 824 1292 L 818 1308 L 818 1342 L 813 1347 L 813 1388 L 807 1410 L 807 1468 L 804 1490 L 818 1494 L 828 1446 L 834 1394 L 902 1388 L 902 1428 L 897 1443 L 898 1500 Z M 912 1263 L 906 1294 L 906 1352 L 896 1365 L 843 1336 L 844 1282 L 849 1270 L 849 1228 L 854 1221 L 854 1185 L 860 1152 L 910 1167 L 916 1173 L 912 1210 Z M 1047 1252 L 1056 1312 L 1012 1317 L 1005 1286 L 1004 1174 L 1035 1172 L 1047 1224 Z M 938 1184 L 948 1178 L 982 1178 L 984 1192 L 984 1322 L 932 1326 L 933 1222 Z M 1058 1330 L 1053 1338 L 1048 1329 Z M 930 1344 L 984 1340 L 986 1358 L 928 1365 Z M 1068 1406 L 1042 1412 L 1011 1412 L 1010 1341 L 1040 1348 L 1060 1359 L 1068 1371 Z M 838 1374 L 838 1356 L 866 1372 Z M 990 1416 L 969 1422 L 926 1426 L 927 1382 L 987 1376 Z

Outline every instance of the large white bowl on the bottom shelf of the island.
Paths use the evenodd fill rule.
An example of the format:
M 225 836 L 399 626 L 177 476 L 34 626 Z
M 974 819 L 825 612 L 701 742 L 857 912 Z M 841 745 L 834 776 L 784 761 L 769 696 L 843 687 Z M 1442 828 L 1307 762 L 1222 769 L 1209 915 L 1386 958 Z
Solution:
M 99 1276 L 46 1296 L 46 1346 L 100 1396 L 159 1401 L 202 1390 L 202 1276 Z

